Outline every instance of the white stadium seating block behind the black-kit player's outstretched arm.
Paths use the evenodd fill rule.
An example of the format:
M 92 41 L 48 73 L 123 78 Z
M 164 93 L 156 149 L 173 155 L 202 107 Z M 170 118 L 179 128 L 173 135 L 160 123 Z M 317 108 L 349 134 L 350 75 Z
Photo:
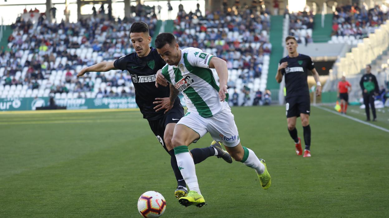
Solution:
M 48 97 L 51 93 L 56 98 L 96 97 L 99 89 L 102 96 L 108 96 L 112 86 L 115 87 L 112 90 L 119 96 L 133 95 L 131 77 L 125 72 L 117 70 L 103 75 L 89 73 L 78 80 L 75 75 L 82 67 L 103 60 L 114 60 L 133 52 L 127 37 L 131 23 L 135 20 L 141 19 L 113 23 L 91 18 L 77 24 L 43 25 L 19 21 L 14 24 L 14 32 L 10 37 L 13 39 L 8 43 L 11 51 L 0 53 L 0 97 Z M 152 33 L 156 19 L 143 21 L 149 24 Z M 97 27 L 96 30 L 88 32 L 87 23 Z M 27 25 L 31 25 L 30 29 L 23 32 Z M 68 35 L 71 33 L 68 28 L 75 31 L 73 35 Z M 105 31 L 102 31 L 103 28 L 106 28 Z M 47 32 L 45 37 L 37 36 L 40 31 Z M 78 44 L 75 46 L 77 48 L 74 44 Z M 47 49 L 43 47 L 45 45 L 48 45 Z M 70 76 L 67 81 L 68 72 Z M 122 86 L 120 89 L 116 88 L 119 80 Z

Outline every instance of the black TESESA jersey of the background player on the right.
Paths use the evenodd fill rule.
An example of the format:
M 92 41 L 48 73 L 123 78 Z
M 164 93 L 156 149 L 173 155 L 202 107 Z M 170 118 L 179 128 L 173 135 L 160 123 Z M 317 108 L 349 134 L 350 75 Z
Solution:
M 288 66 L 281 70 L 285 75 L 286 97 L 309 96 L 308 70 L 315 68 L 312 59 L 299 54 L 297 57 L 286 56 L 280 60 L 280 64 L 282 62 L 288 62 Z

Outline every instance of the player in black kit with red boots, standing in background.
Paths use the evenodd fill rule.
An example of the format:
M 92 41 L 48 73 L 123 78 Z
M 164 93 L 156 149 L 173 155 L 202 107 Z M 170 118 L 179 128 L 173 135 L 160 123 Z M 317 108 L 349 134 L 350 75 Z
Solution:
M 310 97 L 307 81 L 308 70 L 312 72 L 315 78 L 317 96 L 321 94 L 321 83 L 312 59 L 307 55 L 302 55 L 297 52 L 298 45 L 296 39 L 293 36 L 288 36 L 285 42 L 289 55 L 280 60 L 275 79 L 280 83 L 282 76 L 285 75 L 286 120 L 289 134 L 295 142 L 296 154 L 303 154 L 301 139 L 297 136 L 296 129 L 296 119 L 297 117 L 301 117 L 305 142 L 304 157 L 310 157 L 311 128 L 309 126 Z

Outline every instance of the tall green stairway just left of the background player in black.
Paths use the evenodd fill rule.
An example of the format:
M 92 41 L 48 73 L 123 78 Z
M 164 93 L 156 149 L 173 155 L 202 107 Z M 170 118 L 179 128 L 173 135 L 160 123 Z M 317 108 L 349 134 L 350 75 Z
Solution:
M 275 74 L 278 69 L 278 62 L 284 53 L 282 46 L 282 25 L 284 17 L 282 15 L 273 15 L 270 18 L 270 43 L 272 44 L 272 53 L 270 54 L 270 66 L 267 79 L 268 89 L 279 89 L 279 84 L 275 81 Z

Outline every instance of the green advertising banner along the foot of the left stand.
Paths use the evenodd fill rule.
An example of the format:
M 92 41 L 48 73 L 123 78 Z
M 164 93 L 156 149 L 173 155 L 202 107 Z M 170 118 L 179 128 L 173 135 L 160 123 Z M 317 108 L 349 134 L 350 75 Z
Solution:
M 49 101 L 49 97 L 0 98 L 0 111 L 36 110 L 37 107 L 49 106 Z M 68 110 L 138 108 L 133 96 L 54 99 L 54 101 L 57 106 L 66 106 Z M 185 106 L 183 97 L 181 104 Z

